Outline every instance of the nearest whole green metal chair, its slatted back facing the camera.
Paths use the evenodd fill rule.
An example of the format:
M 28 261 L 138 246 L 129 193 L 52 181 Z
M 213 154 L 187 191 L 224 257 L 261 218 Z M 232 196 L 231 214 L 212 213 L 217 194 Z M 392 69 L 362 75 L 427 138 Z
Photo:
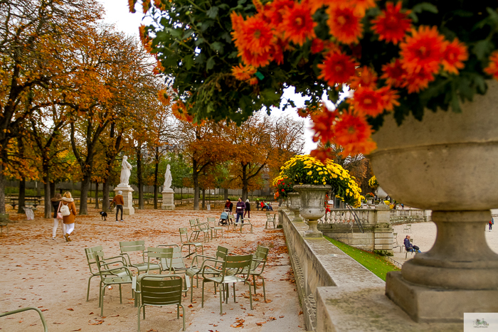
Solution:
M 165 248 L 166 249 L 166 248 Z M 168 248 L 169 249 L 169 248 Z M 139 294 L 141 305 L 138 307 L 138 332 L 140 332 L 140 309 L 145 306 L 169 306 L 176 304 L 176 318 L 180 318 L 180 307 L 183 318 L 183 331 L 185 331 L 185 307 L 181 304 L 181 294 L 188 291 L 189 277 L 185 278 L 187 289 L 182 289 L 183 279 L 178 274 L 147 275 L 142 274 L 137 278 L 136 293 Z

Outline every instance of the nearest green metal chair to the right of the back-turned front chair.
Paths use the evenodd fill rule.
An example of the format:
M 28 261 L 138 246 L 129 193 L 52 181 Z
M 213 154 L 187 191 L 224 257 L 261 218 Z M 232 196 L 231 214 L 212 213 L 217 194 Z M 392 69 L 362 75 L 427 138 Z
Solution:
M 206 259 L 206 261 L 216 261 L 216 259 Z M 253 310 L 253 291 L 250 289 L 249 274 L 245 274 L 245 277 L 238 277 L 244 269 L 250 269 L 253 262 L 253 255 L 243 255 L 243 256 L 229 256 L 225 257 L 225 260 L 221 264 L 221 269 L 214 269 L 218 272 L 218 277 L 208 277 L 206 274 L 213 274 L 213 268 L 208 265 L 204 266 L 202 269 L 202 302 L 201 306 L 204 307 L 204 284 L 206 282 L 214 282 L 215 289 L 216 284 L 220 288 L 220 314 L 223 315 L 223 297 L 225 285 L 226 285 L 226 303 L 228 304 L 228 284 L 233 284 L 233 301 L 235 302 L 235 283 L 243 282 L 249 285 L 249 301 L 250 309 Z M 229 275 L 228 271 L 233 271 L 233 275 Z M 206 273 L 205 273 L 206 272 Z

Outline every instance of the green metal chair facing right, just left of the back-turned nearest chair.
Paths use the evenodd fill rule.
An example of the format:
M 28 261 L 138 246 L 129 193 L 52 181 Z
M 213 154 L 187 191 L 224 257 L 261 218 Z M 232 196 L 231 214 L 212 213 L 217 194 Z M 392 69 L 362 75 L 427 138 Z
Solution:
M 103 252 L 96 252 L 95 260 L 97 261 L 97 268 L 100 274 L 100 291 L 99 291 L 99 306 L 100 306 L 100 316 L 104 316 L 104 296 L 105 289 L 107 286 L 120 285 L 120 303 L 123 303 L 121 285 L 122 284 L 132 284 L 133 274 L 132 271 L 125 267 L 115 267 L 110 269 L 108 265 L 116 264 L 116 262 L 105 262 L 103 259 Z M 126 274 L 122 274 L 123 270 Z M 132 291 L 133 294 L 133 291 Z M 135 299 L 136 301 L 136 299 Z

